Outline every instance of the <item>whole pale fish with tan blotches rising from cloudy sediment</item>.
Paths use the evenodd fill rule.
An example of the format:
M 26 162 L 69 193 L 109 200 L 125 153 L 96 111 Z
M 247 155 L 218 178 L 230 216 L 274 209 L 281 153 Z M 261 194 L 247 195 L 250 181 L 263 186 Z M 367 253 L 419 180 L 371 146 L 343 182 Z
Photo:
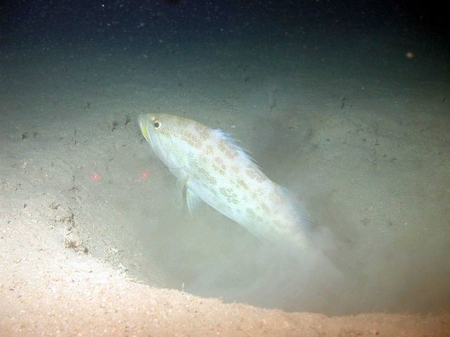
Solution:
M 309 215 L 229 134 L 173 114 L 141 114 L 138 123 L 189 211 L 204 201 L 264 242 L 309 248 Z

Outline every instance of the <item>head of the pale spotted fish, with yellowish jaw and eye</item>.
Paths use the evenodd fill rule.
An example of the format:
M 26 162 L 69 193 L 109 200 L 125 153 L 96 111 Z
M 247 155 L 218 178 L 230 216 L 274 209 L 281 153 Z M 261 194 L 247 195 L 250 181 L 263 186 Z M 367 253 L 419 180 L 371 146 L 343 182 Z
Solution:
M 144 138 L 169 169 L 179 169 L 186 161 L 179 142 L 180 118 L 171 114 L 153 113 L 141 114 L 138 117 Z

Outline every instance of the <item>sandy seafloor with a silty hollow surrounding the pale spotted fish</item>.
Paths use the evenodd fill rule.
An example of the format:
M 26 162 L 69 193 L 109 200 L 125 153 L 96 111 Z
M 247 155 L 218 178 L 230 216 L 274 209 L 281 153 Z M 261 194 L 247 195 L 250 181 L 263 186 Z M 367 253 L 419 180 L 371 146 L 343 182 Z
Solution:
M 1 50 L 1 336 L 450 335 L 448 55 L 243 44 Z M 180 208 L 143 112 L 232 133 L 341 274 Z

